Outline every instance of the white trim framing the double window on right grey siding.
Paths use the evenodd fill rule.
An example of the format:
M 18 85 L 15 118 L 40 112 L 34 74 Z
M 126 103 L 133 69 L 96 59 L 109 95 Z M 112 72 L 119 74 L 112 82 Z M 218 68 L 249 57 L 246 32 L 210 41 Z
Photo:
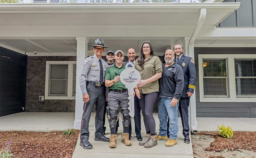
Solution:
M 228 98 L 204 98 L 204 82 L 203 82 L 203 58 L 227 58 L 228 59 Z M 250 59 L 255 58 L 255 54 L 199 54 L 198 55 L 198 76 L 199 76 L 199 92 L 200 102 L 255 102 L 256 98 L 237 98 L 236 97 L 236 73 L 235 58 Z

